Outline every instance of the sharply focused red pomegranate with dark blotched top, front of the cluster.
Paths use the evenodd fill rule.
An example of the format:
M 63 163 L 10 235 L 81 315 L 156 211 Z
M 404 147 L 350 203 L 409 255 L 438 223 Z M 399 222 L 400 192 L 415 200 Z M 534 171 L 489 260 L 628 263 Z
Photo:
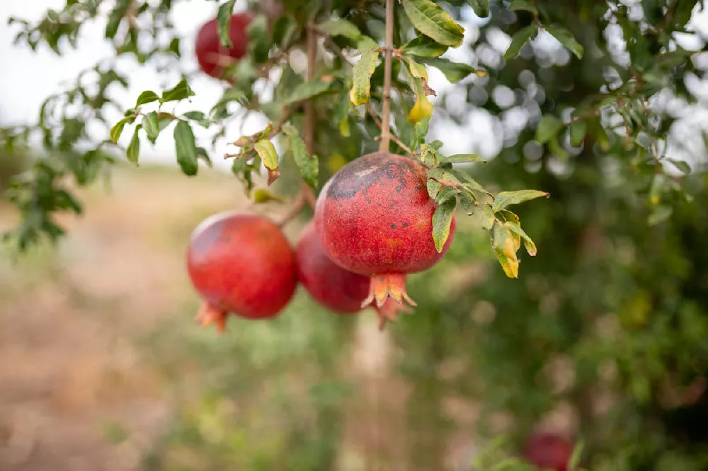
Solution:
M 315 222 L 327 255 L 343 268 L 371 278 L 362 306 L 377 306 L 391 296 L 399 303 L 416 303 L 406 293 L 408 273 L 433 267 L 441 252 L 433 242 L 437 205 L 427 190 L 428 168 L 418 161 L 375 152 L 344 165 L 323 187 Z

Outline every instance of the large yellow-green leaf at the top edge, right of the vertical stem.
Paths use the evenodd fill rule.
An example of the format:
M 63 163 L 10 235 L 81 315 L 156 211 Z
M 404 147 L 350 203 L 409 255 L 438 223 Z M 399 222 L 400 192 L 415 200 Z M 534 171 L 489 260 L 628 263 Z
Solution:
M 442 45 L 462 44 L 464 28 L 430 0 L 403 0 L 403 9 L 417 30 Z

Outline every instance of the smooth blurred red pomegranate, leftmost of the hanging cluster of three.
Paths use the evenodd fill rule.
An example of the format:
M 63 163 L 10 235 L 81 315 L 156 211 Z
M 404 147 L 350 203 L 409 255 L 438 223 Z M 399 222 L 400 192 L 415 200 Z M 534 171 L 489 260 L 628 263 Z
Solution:
M 295 252 L 280 228 L 263 216 L 227 212 L 192 233 L 187 269 L 204 299 L 197 320 L 224 330 L 226 316 L 273 318 L 297 285 Z

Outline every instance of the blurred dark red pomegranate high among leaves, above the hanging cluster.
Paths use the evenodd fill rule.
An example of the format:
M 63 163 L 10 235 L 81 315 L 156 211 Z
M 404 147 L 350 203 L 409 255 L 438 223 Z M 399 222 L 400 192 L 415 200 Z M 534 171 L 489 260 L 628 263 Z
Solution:
M 235 13 L 229 23 L 229 37 L 232 47 L 224 47 L 219 41 L 219 25 L 216 18 L 207 21 L 197 33 L 195 53 L 200 69 L 217 79 L 222 79 L 224 71 L 248 52 L 249 35 L 246 33 L 253 18 L 249 13 Z

